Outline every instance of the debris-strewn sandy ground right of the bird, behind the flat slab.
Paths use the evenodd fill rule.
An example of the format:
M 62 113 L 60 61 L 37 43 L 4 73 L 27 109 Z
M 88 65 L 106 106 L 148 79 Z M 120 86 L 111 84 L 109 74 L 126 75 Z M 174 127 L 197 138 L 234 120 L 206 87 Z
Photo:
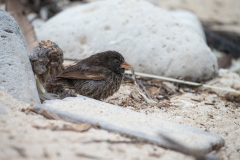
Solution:
M 237 85 L 240 82 L 239 75 L 231 72 L 220 73 L 212 82 L 218 86 L 232 86 L 238 90 L 240 87 Z M 107 102 L 123 107 L 128 103 L 130 104 L 128 108 L 132 110 L 149 115 L 161 115 L 165 120 L 219 134 L 225 139 L 226 144 L 217 155 L 221 159 L 240 159 L 239 101 L 227 100 L 226 94 L 221 91 L 199 90 L 169 82 L 158 83 L 156 80 L 148 80 L 145 81 L 145 85 L 158 104 L 147 104 L 136 94 L 136 87 L 129 85 L 122 86 L 118 93 L 108 98 Z M 126 91 L 131 93 L 128 95 Z M 165 95 L 165 98 L 158 100 L 157 97 L 161 95 Z M 223 95 L 225 97 L 222 97 Z

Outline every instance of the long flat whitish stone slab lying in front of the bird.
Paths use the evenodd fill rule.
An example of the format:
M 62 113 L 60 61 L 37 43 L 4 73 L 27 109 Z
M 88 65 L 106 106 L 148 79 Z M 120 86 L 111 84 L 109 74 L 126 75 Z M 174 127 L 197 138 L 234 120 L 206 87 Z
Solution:
M 224 145 L 224 140 L 216 134 L 166 121 L 160 115 L 146 115 L 84 96 L 49 100 L 33 108 L 36 111 L 48 110 L 71 122 L 97 124 L 102 129 L 145 139 L 171 149 L 176 146 L 159 134 L 201 153 L 208 153 Z

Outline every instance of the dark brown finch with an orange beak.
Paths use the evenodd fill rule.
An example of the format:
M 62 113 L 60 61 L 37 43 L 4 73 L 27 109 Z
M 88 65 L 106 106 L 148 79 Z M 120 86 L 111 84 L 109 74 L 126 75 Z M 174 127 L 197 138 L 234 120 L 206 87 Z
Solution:
M 106 51 L 85 58 L 57 75 L 78 94 L 105 99 L 120 88 L 125 68 L 131 66 L 115 51 Z

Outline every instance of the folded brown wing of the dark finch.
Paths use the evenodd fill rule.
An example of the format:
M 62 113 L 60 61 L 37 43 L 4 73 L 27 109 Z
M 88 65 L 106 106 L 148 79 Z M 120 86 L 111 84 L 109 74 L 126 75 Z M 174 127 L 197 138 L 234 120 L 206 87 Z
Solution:
M 57 75 L 58 78 L 69 79 L 92 79 L 103 80 L 106 78 L 106 69 L 98 66 L 87 66 L 78 62 L 77 64 L 68 67 L 66 70 Z

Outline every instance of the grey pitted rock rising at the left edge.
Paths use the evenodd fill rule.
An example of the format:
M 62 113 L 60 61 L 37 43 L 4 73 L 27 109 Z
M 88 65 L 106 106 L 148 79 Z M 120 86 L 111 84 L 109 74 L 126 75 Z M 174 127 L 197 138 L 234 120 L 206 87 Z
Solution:
M 0 89 L 18 100 L 40 103 L 27 53 L 17 22 L 0 10 Z

